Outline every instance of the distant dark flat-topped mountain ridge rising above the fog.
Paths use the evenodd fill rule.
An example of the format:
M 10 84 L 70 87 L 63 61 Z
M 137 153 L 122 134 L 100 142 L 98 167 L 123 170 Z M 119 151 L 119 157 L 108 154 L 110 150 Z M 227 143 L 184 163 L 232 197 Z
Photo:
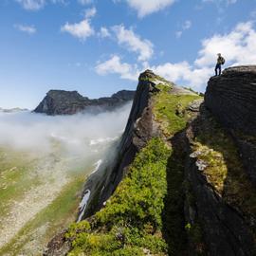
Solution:
M 127 101 L 133 101 L 134 96 L 134 91 L 123 90 L 111 97 L 90 100 L 82 97 L 77 91 L 50 90 L 34 112 L 47 115 L 73 115 L 92 107 L 97 111 L 113 110 Z

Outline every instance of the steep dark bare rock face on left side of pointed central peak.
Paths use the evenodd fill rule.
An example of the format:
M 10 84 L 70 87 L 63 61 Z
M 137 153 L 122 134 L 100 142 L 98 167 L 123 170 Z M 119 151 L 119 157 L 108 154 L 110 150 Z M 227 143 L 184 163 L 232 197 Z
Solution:
M 137 152 L 145 146 L 151 137 L 159 134 L 152 114 L 151 99 L 153 93 L 157 91 L 155 88 L 157 83 L 148 82 L 149 78 L 155 79 L 155 74 L 150 70 L 142 73 L 139 77 L 137 94 L 117 149 L 105 163 L 101 164 L 100 170 L 86 181 L 84 191 L 89 190 L 92 195 L 83 218 L 101 209 L 103 203 L 119 185 L 125 169 L 134 160 Z

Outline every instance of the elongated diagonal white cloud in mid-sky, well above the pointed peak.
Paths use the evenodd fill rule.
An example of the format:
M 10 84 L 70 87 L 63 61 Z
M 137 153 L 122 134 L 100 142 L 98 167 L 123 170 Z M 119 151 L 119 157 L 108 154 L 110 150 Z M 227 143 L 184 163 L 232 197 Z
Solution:
M 119 45 L 138 53 L 138 61 L 147 61 L 152 57 L 154 46 L 149 40 L 140 39 L 132 29 L 126 29 L 123 25 L 112 27 L 112 29 L 116 33 Z

